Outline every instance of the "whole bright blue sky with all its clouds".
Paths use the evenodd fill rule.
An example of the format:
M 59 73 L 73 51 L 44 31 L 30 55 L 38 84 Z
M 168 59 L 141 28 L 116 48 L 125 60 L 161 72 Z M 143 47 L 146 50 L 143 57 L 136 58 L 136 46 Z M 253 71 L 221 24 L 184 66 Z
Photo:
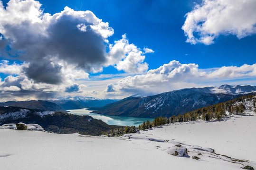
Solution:
M 2 0 L 0 101 L 256 85 L 255 0 Z

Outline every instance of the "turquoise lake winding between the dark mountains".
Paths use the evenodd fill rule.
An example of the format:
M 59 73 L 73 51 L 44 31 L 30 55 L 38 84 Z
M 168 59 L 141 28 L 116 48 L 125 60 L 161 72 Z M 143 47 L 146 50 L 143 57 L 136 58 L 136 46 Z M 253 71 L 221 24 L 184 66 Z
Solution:
M 153 121 L 152 118 L 135 118 L 135 117 L 123 117 L 123 116 L 109 116 L 109 115 L 102 115 L 96 113 L 90 113 L 93 110 L 87 109 L 75 109 L 75 110 L 67 110 L 68 113 L 75 114 L 75 115 L 88 115 L 95 119 L 100 119 L 109 125 L 121 125 L 121 126 L 139 126 L 143 123 L 143 121 Z

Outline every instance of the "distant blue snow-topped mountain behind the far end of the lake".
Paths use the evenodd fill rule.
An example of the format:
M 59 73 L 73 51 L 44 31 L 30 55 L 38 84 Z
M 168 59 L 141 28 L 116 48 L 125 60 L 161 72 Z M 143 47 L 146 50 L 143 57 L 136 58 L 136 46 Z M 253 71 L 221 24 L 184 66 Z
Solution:
M 106 104 L 119 101 L 117 99 L 100 99 L 97 97 L 84 97 L 84 96 L 65 96 L 59 97 L 57 100 L 52 100 L 65 110 L 82 109 L 88 107 L 102 107 Z

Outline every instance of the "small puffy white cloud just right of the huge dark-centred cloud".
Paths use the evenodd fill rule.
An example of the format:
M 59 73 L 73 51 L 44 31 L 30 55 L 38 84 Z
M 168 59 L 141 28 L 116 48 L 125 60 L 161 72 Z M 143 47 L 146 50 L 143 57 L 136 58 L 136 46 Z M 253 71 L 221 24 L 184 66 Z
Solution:
M 129 73 L 142 73 L 148 70 L 148 64 L 143 62 L 145 56 L 141 49 L 134 44 L 130 44 L 126 35 L 121 40 L 110 44 L 110 51 L 107 54 L 106 66 L 114 66 L 117 70 L 123 70 Z

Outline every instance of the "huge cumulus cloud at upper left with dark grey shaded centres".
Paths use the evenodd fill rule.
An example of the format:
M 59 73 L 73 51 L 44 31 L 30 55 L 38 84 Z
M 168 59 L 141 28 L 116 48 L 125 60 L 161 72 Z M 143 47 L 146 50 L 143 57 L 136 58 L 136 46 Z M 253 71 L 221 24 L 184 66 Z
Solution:
M 114 34 L 108 23 L 91 11 L 66 7 L 51 16 L 40 7 L 35 0 L 10 0 L 6 8 L 0 2 L 1 55 L 9 58 L 12 54 L 27 61 L 26 75 L 48 84 L 62 82 L 60 61 L 85 71 L 102 70 L 104 43 Z

